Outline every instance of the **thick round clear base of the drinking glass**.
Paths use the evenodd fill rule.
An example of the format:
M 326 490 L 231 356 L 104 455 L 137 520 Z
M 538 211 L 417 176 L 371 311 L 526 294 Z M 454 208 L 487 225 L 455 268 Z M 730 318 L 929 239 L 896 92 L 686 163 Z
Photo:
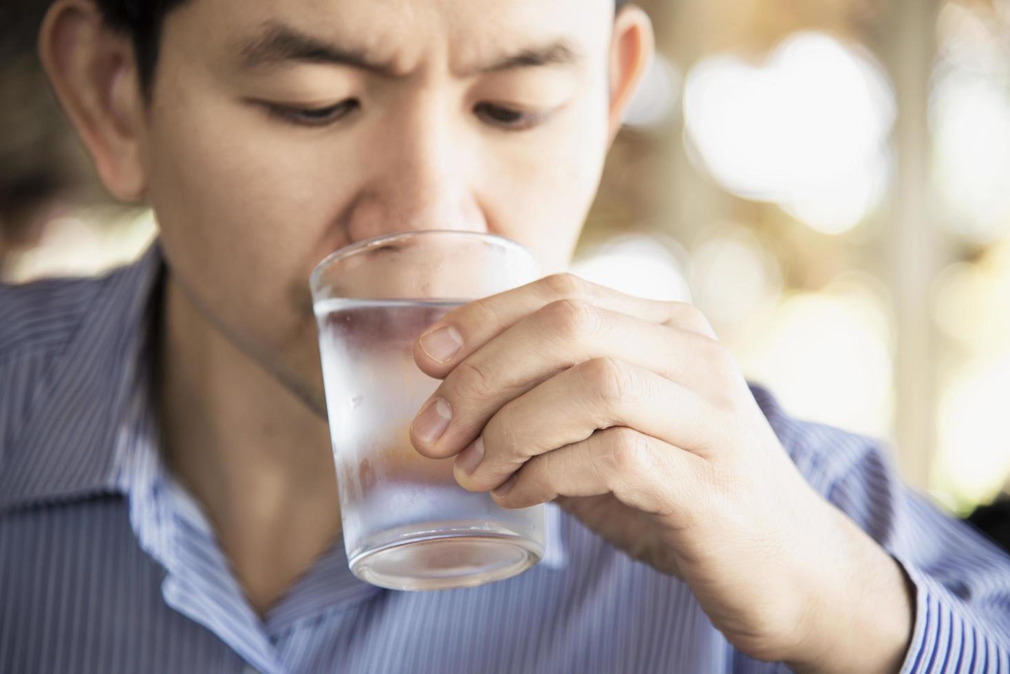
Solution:
M 408 529 L 408 528 L 405 528 Z M 452 528 L 384 532 L 384 541 L 350 556 L 362 580 L 398 590 L 475 587 L 522 573 L 543 556 L 541 546 L 504 529 Z

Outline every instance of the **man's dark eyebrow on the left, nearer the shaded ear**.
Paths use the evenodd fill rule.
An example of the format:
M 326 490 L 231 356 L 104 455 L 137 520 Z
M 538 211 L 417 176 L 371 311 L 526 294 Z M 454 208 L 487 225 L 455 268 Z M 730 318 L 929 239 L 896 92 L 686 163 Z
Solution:
M 365 49 L 327 43 L 281 23 L 267 23 L 256 37 L 240 40 L 238 52 L 242 66 L 248 69 L 296 62 L 348 66 L 387 77 L 394 75 L 390 64 L 375 61 Z

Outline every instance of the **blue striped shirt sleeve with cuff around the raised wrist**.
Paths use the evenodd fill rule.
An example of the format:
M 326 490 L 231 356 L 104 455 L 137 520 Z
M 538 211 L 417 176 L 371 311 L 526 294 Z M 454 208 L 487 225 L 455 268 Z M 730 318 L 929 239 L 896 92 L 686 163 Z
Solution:
M 826 496 L 905 569 L 915 628 L 902 674 L 1010 674 L 1010 557 L 906 487 L 879 444 L 844 435 Z

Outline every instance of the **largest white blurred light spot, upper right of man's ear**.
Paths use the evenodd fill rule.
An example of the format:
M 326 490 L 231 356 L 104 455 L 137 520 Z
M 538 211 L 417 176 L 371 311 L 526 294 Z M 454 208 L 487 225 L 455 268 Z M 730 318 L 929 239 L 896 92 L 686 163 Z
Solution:
M 698 63 L 684 110 L 687 140 L 717 182 L 820 231 L 856 225 L 888 184 L 894 92 L 869 53 L 829 35 L 794 34 L 764 64 Z

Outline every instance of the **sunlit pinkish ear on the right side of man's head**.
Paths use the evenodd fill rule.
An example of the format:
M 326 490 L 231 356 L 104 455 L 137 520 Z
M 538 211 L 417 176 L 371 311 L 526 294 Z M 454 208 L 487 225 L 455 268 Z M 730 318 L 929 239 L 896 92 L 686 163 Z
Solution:
M 624 7 L 614 21 L 610 46 L 610 141 L 620 131 L 624 112 L 655 53 L 655 36 L 648 14 L 634 5 Z

